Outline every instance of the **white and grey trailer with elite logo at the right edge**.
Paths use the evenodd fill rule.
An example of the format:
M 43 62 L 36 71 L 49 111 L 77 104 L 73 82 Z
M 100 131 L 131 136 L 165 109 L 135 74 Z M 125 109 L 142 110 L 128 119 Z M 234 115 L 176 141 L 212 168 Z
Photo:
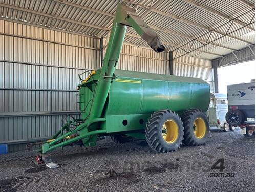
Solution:
M 245 129 L 245 136 L 255 134 L 255 79 L 227 86 L 227 99 L 228 124 Z

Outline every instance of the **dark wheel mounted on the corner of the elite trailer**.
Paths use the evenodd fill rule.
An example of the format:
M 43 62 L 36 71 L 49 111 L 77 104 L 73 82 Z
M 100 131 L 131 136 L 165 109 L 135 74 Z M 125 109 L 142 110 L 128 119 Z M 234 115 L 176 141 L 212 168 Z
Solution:
M 239 126 L 244 122 L 244 114 L 238 109 L 229 110 L 226 114 L 226 121 L 231 126 Z

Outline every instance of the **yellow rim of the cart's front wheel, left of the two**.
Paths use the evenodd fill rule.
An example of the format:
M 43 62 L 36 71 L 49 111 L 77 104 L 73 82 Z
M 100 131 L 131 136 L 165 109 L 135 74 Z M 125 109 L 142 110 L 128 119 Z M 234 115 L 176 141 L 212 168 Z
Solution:
M 167 143 L 174 143 L 179 135 L 178 124 L 170 119 L 164 122 L 162 126 L 162 137 Z

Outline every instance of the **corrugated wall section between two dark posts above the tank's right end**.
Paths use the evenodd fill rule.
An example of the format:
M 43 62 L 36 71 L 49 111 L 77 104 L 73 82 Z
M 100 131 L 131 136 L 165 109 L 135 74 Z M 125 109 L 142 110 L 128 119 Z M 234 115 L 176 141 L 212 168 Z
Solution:
M 210 84 L 210 91 L 214 93 L 214 70 L 210 60 L 184 56 L 175 59 L 173 68 L 174 75 L 203 79 Z

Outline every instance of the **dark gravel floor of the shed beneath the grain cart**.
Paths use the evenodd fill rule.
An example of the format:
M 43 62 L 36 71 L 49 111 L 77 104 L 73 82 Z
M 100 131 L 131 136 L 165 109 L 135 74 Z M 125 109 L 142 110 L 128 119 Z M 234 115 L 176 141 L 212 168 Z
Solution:
M 141 140 L 105 139 L 51 154 L 59 168 L 34 166 L 35 152 L 1 155 L 0 191 L 255 191 L 255 137 L 239 129 L 212 129 L 206 145 L 172 153 L 157 154 Z M 218 159 L 224 159 L 222 172 L 211 169 Z M 113 177 L 106 175 L 111 168 Z

